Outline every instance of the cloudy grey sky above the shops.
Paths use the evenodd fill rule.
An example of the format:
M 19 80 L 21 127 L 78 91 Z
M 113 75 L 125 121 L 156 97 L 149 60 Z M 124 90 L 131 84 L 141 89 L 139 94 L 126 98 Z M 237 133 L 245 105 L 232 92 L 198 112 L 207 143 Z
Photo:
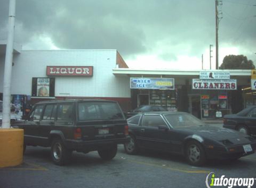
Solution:
M 16 0 L 23 49 L 117 49 L 131 68 L 215 67 L 215 0 Z M 0 40 L 8 0 L 0 0 Z M 256 63 L 256 0 L 222 0 L 219 64 L 230 54 Z

